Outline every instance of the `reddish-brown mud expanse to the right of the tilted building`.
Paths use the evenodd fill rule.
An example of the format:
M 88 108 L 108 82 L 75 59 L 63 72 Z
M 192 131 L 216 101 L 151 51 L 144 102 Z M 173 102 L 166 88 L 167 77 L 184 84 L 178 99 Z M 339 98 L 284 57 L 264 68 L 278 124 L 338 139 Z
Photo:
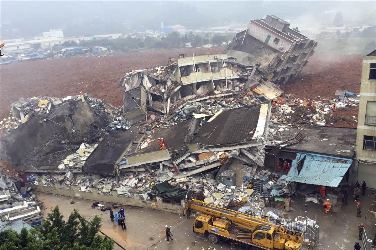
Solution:
M 333 99 L 336 90 L 359 93 L 362 74 L 361 55 L 324 55 L 315 53 L 302 71 L 288 84 L 281 84 L 293 97 Z

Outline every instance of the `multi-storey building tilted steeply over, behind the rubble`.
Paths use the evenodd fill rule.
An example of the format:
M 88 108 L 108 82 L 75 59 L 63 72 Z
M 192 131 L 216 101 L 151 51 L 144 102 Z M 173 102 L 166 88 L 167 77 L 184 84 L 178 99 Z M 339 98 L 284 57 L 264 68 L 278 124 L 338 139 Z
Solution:
M 291 29 L 290 23 L 267 15 L 265 19 L 251 20 L 223 54 L 255 69 L 250 75 L 253 83 L 263 79 L 280 84 L 301 72 L 316 46 L 317 42 L 300 34 L 297 28 Z

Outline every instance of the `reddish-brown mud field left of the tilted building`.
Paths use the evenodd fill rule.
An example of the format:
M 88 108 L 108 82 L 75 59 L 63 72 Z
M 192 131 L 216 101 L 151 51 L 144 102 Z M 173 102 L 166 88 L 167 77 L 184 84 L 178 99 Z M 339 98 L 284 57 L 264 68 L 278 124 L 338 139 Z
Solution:
M 168 57 L 220 54 L 223 48 L 195 48 L 127 53 L 106 57 L 63 58 L 0 66 L 0 119 L 9 116 L 11 103 L 19 97 L 64 97 L 80 92 L 123 104 L 118 82 L 133 69 L 166 65 Z

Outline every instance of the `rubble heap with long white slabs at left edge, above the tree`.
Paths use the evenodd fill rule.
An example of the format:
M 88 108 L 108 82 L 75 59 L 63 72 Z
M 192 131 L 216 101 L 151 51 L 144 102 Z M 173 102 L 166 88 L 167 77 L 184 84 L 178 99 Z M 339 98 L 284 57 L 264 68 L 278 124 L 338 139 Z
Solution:
M 26 178 L 35 180 L 32 175 Z M 8 172 L 3 174 L 0 169 L 0 220 L 12 222 L 18 219 L 41 219 L 40 204 L 31 187 L 25 186 Z

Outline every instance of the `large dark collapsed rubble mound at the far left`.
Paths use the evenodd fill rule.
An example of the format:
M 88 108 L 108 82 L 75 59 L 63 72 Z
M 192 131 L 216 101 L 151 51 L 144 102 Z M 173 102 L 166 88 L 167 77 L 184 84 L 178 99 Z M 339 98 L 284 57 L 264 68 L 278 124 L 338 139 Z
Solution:
M 126 130 L 127 124 L 120 109 L 87 93 L 20 98 L 0 128 L 6 133 L 0 141 L 1 157 L 19 171 L 48 172 L 49 165 L 61 160 L 58 171 L 82 172 L 97 142 L 117 129 Z

